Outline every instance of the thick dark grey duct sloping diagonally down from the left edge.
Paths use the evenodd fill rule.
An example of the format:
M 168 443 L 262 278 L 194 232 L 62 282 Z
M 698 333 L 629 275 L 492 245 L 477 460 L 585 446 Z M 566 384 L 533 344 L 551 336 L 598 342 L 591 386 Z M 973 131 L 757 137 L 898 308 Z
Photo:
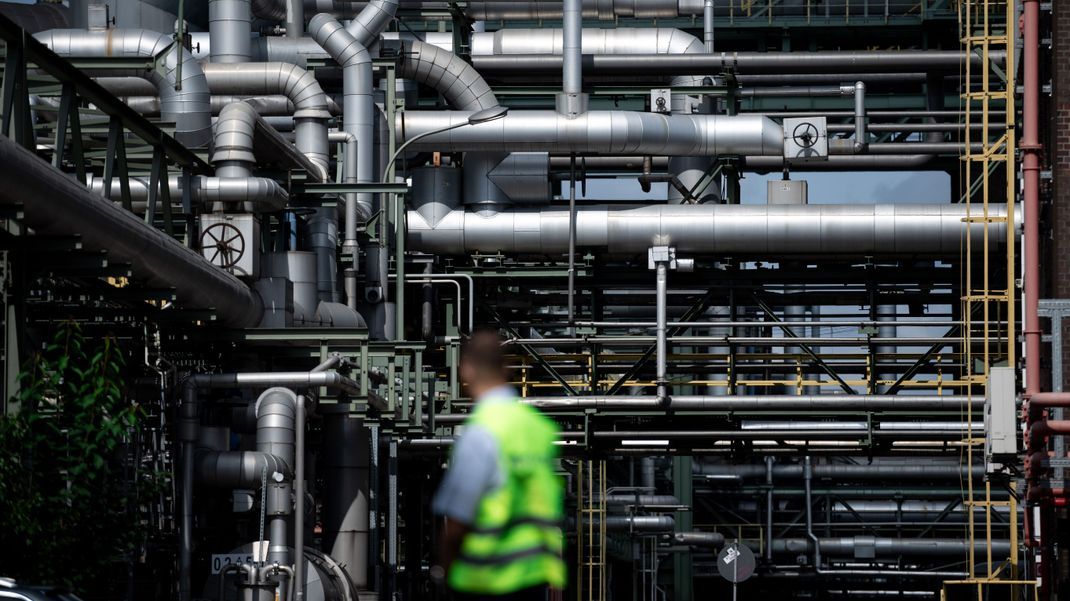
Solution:
M 224 325 L 260 323 L 260 297 L 240 279 L 133 213 L 101 202 L 98 195 L 3 136 L 0 174 L 20 182 L 0 190 L 0 202 L 24 205 L 26 222 L 37 233 L 80 236 L 87 248 L 129 263 L 149 284 L 174 289 L 181 305 L 215 309 Z

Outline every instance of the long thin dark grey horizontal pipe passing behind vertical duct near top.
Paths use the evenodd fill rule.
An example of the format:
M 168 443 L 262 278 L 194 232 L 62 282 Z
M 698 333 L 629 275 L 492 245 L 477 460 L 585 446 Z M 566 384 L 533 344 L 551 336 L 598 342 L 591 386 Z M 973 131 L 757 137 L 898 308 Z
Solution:
M 491 34 L 485 34 L 491 35 Z M 474 36 L 478 40 L 479 35 Z M 992 52 L 996 63 L 1006 55 Z M 584 55 L 587 74 L 720 73 L 914 73 L 918 70 L 954 72 L 965 66 L 966 55 L 958 50 L 883 50 L 819 52 L 718 52 L 714 55 Z M 980 58 L 975 58 L 980 62 Z M 472 64 L 480 73 L 552 75 L 561 72 L 560 56 L 537 53 L 487 55 L 473 52 Z

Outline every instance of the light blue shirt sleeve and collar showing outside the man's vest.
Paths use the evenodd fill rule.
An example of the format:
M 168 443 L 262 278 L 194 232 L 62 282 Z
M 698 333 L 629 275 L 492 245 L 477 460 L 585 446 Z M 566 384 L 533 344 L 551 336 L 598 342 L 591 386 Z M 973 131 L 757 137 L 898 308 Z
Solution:
M 476 399 L 476 404 L 513 403 L 516 400 L 517 391 L 511 386 L 502 385 Z M 483 497 L 505 483 L 500 461 L 494 435 L 482 426 L 464 426 L 454 441 L 449 469 L 434 493 L 431 510 L 437 515 L 471 525 Z

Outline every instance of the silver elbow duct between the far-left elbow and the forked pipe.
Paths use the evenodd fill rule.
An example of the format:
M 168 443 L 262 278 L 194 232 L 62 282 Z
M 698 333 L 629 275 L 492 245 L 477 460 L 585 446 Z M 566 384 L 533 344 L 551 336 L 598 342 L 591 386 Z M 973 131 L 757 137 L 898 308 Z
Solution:
M 213 94 L 282 94 L 293 103 L 294 145 L 326 180 L 328 166 L 327 96 L 308 71 L 281 62 L 205 64 L 204 76 Z

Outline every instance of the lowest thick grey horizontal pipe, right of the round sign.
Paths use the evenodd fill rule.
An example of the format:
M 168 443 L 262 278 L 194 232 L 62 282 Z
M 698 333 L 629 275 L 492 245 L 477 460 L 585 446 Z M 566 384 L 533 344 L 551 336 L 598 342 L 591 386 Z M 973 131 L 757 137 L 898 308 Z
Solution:
M 893 557 L 897 555 L 907 555 L 914 557 L 949 557 L 961 555 L 965 557 L 969 543 L 962 539 L 897 539 L 876 538 L 869 536 L 820 538 L 817 544 L 821 552 L 832 556 L 853 556 L 856 550 L 872 550 L 877 557 Z M 804 538 L 777 539 L 773 543 L 774 553 L 812 553 L 814 543 Z M 974 549 L 978 553 L 984 553 L 987 542 L 978 540 L 974 542 Z M 1010 542 L 1007 540 L 993 540 L 992 553 L 997 556 L 1006 556 L 1010 553 Z M 835 572 L 834 572 L 835 573 Z

